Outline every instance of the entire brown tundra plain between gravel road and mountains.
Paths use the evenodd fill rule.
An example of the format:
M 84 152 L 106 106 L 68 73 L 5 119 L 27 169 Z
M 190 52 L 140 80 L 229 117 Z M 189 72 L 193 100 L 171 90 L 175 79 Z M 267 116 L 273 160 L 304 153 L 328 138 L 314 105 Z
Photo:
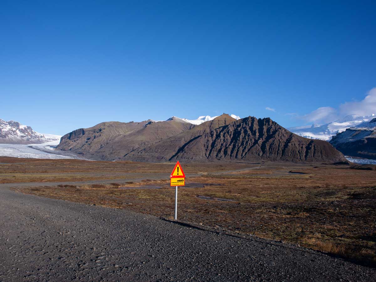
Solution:
M 174 163 L 0 158 L 0 187 L 173 220 Z M 182 163 L 178 221 L 376 265 L 376 166 Z

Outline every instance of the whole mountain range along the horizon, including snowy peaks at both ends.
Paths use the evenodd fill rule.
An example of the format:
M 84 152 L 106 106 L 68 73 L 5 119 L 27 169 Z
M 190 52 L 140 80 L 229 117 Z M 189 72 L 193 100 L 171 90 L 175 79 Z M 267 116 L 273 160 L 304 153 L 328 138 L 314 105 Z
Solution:
M 242 119 L 223 114 L 200 116 L 196 120 L 171 117 L 165 121 L 110 121 L 74 130 L 61 138 L 38 133 L 17 121 L 0 119 L 0 144 L 52 146 L 59 144 L 61 138 L 57 149 L 66 152 L 60 154 L 74 153 L 81 156 L 78 158 L 100 160 L 343 161 L 337 150 L 348 156 L 376 159 L 375 115 L 349 115 L 321 126 L 312 124 L 289 130 L 296 135 L 268 118 Z M 302 137 L 328 140 L 337 150 L 326 142 Z

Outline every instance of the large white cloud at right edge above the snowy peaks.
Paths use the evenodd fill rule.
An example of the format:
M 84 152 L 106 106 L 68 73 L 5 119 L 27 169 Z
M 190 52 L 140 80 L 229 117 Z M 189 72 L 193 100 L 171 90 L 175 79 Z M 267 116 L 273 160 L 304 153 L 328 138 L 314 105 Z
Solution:
M 346 102 L 340 105 L 340 113 L 346 115 L 371 115 L 376 114 L 376 87 L 368 91 L 361 101 Z

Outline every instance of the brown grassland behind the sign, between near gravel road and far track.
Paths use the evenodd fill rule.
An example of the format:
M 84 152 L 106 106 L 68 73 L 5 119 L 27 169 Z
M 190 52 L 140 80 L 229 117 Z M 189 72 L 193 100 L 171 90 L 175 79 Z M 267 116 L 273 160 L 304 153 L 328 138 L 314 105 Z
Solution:
M 197 183 L 197 186 L 179 188 L 178 219 L 284 240 L 368 265 L 376 264 L 374 171 L 334 165 L 262 165 L 262 168 L 227 174 L 210 173 L 203 169 L 205 165 L 196 165 L 196 171 L 202 175 L 186 179 L 187 184 Z M 229 165 L 229 170 L 234 167 Z M 17 190 L 173 219 L 174 189 L 168 182 L 170 168 L 171 164 L 163 180 L 146 176 L 143 181 L 125 180 L 94 188 L 88 184 L 79 188 L 59 185 Z M 217 167 L 223 168 L 226 166 Z M 150 189 L 153 186 L 161 189 Z M 197 196 L 232 201 L 203 200 Z

